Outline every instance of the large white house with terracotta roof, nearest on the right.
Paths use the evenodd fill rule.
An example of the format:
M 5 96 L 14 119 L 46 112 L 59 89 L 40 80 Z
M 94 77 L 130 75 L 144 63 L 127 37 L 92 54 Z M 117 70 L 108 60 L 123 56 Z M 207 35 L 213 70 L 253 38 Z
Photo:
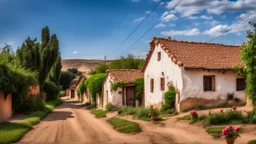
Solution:
M 216 107 L 230 97 L 246 103 L 245 79 L 233 70 L 238 64 L 239 46 L 153 38 L 142 68 L 145 106 L 160 108 L 171 84 L 178 112 Z

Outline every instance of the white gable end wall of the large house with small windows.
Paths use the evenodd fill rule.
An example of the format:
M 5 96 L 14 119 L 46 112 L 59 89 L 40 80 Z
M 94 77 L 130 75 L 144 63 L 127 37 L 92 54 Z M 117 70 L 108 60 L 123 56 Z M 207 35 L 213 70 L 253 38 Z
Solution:
M 157 60 L 157 53 L 161 52 L 161 60 Z M 164 76 L 162 75 L 164 72 Z M 160 78 L 165 78 L 165 91 L 168 90 L 167 83 L 172 81 L 179 90 L 182 89 L 181 68 L 169 58 L 167 53 L 157 45 L 152 53 L 144 72 L 145 106 L 160 105 L 163 102 L 165 91 L 160 89 Z M 154 92 L 150 92 L 150 79 L 154 79 Z

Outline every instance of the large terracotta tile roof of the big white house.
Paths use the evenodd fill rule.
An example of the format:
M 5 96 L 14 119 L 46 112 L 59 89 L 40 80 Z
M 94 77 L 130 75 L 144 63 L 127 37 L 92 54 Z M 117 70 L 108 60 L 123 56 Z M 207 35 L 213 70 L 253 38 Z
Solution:
M 153 38 L 142 71 L 147 67 L 154 48 L 158 44 L 173 62 L 185 68 L 233 69 L 235 65 L 241 64 L 241 46 Z

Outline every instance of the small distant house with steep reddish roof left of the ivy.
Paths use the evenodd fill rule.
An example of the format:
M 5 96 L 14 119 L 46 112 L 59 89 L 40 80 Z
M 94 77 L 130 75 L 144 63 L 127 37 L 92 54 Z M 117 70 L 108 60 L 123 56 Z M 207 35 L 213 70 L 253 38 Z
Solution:
M 76 82 L 76 93 L 77 93 L 77 90 L 79 88 L 79 85 L 86 79 L 88 79 L 90 76 L 89 75 L 86 75 L 86 74 L 82 74 L 77 82 Z M 78 100 L 78 95 L 76 94 L 76 99 Z M 90 93 L 88 91 L 88 89 L 86 88 L 84 93 L 81 93 L 81 96 L 80 96 L 80 99 L 79 99 L 82 103 L 86 103 L 86 102 L 91 102 L 91 96 L 90 96 Z

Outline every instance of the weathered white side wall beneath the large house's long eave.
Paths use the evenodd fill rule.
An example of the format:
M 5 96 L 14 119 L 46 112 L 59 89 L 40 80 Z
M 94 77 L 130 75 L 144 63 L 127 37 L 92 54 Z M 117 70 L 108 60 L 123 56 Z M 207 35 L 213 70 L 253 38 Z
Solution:
M 215 91 L 203 90 L 203 76 L 215 76 Z M 203 70 L 182 70 L 183 89 L 181 91 L 181 101 L 187 97 L 197 97 L 204 99 L 227 99 L 228 93 L 234 93 L 234 97 L 245 101 L 245 92 L 236 91 L 236 78 L 240 78 L 232 71 L 225 73 L 218 71 L 208 72 Z

